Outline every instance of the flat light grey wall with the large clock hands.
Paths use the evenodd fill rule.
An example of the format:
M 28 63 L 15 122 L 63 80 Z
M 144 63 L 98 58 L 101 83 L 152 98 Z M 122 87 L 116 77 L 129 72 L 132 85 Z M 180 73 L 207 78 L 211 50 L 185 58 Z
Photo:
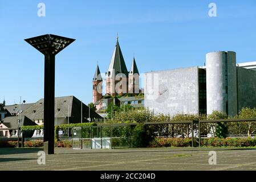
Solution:
M 198 68 L 145 73 L 145 107 L 155 113 L 197 114 Z

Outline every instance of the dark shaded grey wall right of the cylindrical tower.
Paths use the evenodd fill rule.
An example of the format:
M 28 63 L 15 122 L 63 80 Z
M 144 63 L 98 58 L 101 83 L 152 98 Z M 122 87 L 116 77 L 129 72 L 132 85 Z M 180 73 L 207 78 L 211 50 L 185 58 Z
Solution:
M 256 71 L 237 67 L 238 111 L 242 107 L 256 107 Z

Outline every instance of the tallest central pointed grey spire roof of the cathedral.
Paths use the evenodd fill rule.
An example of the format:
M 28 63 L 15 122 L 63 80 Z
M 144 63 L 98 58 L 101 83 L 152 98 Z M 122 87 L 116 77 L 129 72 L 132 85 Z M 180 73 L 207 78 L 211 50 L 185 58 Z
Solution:
M 113 73 L 115 71 L 115 73 Z M 121 48 L 119 46 L 118 38 L 116 42 L 116 46 L 108 67 L 108 72 L 106 77 L 114 78 L 118 73 L 123 73 L 126 77 L 128 77 L 127 67 L 124 62 L 124 57 L 121 52 Z

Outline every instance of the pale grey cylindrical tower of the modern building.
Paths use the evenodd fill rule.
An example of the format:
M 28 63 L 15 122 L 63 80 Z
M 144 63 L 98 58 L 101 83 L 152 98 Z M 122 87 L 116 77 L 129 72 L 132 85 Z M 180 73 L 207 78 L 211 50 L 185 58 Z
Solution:
M 217 110 L 237 114 L 237 68 L 233 51 L 206 54 L 207 114 Z

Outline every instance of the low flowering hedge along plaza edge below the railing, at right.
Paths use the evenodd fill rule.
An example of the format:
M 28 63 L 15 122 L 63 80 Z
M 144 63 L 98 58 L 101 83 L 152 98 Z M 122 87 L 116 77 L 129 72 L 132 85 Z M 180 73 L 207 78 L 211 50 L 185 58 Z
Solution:
M 154 138 L 149 147 L 188 147 L 191 138 Z M 202 147 L 254 147 L 256 138 L 203 138 Z

